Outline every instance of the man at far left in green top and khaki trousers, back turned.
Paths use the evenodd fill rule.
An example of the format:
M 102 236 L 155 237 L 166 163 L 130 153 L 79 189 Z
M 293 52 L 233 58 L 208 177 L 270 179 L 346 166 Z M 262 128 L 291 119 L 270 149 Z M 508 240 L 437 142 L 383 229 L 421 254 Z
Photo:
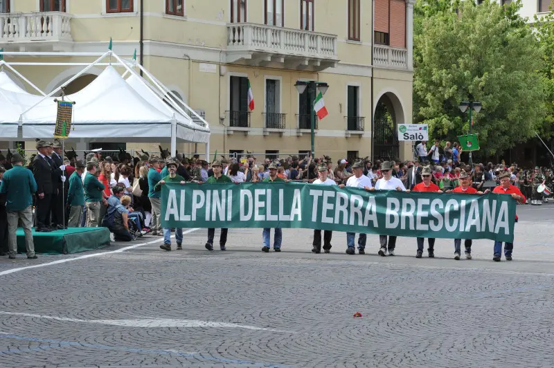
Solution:
M 17 255 L 17 225 L 19 221 L 25 232 L 25 247 L 28 259 L 37 259 L 33 243 L 33 193 L 37 192 L 37 182 L 33 172 L 23 167 L 23 157 L 14 154 L 12 169 L 3 174 L 0 193 L 6 194 L 8 217 L 8 248 L 10 259 Z

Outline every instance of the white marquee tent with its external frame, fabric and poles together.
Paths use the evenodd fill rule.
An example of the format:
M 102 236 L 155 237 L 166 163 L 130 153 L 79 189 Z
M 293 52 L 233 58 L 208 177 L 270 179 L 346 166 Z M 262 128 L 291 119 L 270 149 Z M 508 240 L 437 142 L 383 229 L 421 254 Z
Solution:
M 3 53 L 4 55 L 27 55 L 29 53 Z M 69 53 L 67 53 L 69 54 Z M 35 56 L 50 53 L 33 53 Z M 59 53 L 55 55 L 60 55 Z M 71 53 L 78 56 L 78 53 Z M 89 54 L 87 54 L 89 55 Z M 89 55 L 90 56 L 90 55 Z M 98 55 L 96 55 L 98 56 Z M 148 71 L 136 64 L 120 59 L 109 50 L 100 54 L 92 63 L 85 64 L 80 73 L 67 80 L 49 95 L 44 95 L 28 80 L 39 93 L 33 95 L 21 89 L 6 73 L 0 73 L 0 137 L 6 138 L 52 138 L 57 117 L 57 103 L 53 95 L 63 86 L 73 82 L 93 66 L 100 65 L 102 59 L 115 57 L 93 82 L 73 95 L 64 96 L 64 100 L 75 102 L 73 107 L 70 139 L 90 139 L 95 141 L 117 140 L 119 142 L 166 142 L 170 140 L 171 151 L 175 154 L 177 140 L 184 142 L 206 143 L 209 151 L 210 129 L 208 123 L 190 109 L 179 98 L 166 99 L 171 92 Z M 3 61 L 12 71 L 15 69 Z M 25 62 L 12 63 L 25 65 Z M 37 65 L 36 62 L 29 63 Z M 44 62 L 45 65 L 63 63 Z M 114 66 L 123 66 L 122 76 Z M 133 67 L 138 67 L 148 76 L 150 82 L 140 77 Z M 19 72 L 15 71 L 19 75 Z M 130 76 L 127 80 L 125 75 Z M 22 77 L 24 78 L 24 77 Z M 58 98 L 59 99 L 59 98 Z M 191 119 L 191 114 L 198 119 Z M 21 134 L 18 136 L 18 124 Z

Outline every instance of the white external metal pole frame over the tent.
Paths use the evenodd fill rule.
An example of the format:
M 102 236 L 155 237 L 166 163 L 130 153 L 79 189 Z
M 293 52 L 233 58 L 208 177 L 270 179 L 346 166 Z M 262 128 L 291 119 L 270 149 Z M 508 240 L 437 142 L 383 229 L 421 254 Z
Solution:
M 52 98 L 53 95 L 55 95 L 57 92 L 61 91 L 65 86 L 71 84 L 71 82 L 77 80 L 79 77 L 87 73 L 91 68 L 94 66 L 123 66 L 125 68 L 125 73 L 123 73 L 122 77 L 125 78 L 127 74 L 136 75 L 136 77 L 139 77 L 139 80 L 148 87 L 154 94 L 163 102 L 165 105 L 166 103 L 172 107 L 168 108 L 168 111 L 172 113 L 173 119 L 171 122 L 171 156 L 175 156 L 177 153 L 177 118 L 175 116 L 175 111 L 181 113 L 184 117 L 188 118 L 190 122 L 192 122 L 195 125 L 199 125 L 199 127 L 202 127 L 203 129 L 209 129 L 208 122 L 202 118 L 196 111 L 194 111 L 191 107 L 188 106 L 181 98 L 179 98 L 175 93 L 173 93 L 168 87 L 160 82 L 152 73 L 150 73 L 146 68 L 144 68 L 141 64 L 138 64 L 136 62 L 136 59 L 127 60 L 122 59 L 119 57 L 116 53 L 114 53 L 113 50 L 108 50 L 105 53 L 42 53 L 42 52 L 15 52 L 15 51 L 0 51 L 0 55 L 3 56 L 34 56 L 34 57 L 46 57 L 46 56 L 71 56 L 71 57 L 91 57 L 96 56 L 98 59 L 94 60 L 93 62 L 87 63 L 69 63 L 69 62 L 6 62 L 4 59 L 0 59 L 0 68 L 3 68 L 3 66 L 6 66 L 7 68 L 12 71 L 12 73 L 15 73 L 17 77 L 21 78 L 21 80 L 24 80 L 27 84 L 33 87 L 37 92 L 39 92 L 43 98 L 37 104 L 33 105 L 33 107 L 30 107 L 24 113 L 27 113 L 34 107 L 36 107 L 38 104 L 43 102 L 44 100 L 48 98 Z M 109 57 L 109 62 L 102 62 L 107 57 Z M 111 62 L 111 57 L 114 57 L 116 59 L 116 62 Z M 12 66 L 22 65 L 22 66 L 84 66 L 81 71 L 79 71 L 77 74 L 73 75 L 73 77 L 69 78 L 69 80 L 66 80 L 66 82 L 63 82 L 58 86 L 56 89 L 51 91 L 50 93 L 46 94 L 44 91 L 39 89 L 35 84 L 30 82 L 24 75 L 19 73 L 15 68 Z M 142 77 L 137 73 L 134 68 L 139 68 L 140 71 L 143 72 L 143 75 L 145 75 L 147 78 Z M 146 81 L 146 82 L 145 82 Z M 149 83 L 148 83 L 149 82 Z M 182 108 L 184 107 L 184 109 Z M 186 111 L 188 110 L 188 112 Z M 22 113 L 21 115 L 24 115 Z M 197 120 L 199 120 L 201 124 L 199 124 L 197 121 L 193 120 L 191 116 L 195 116 Z M 206 142 L 206 160 L 209 160 L 210 155 L 210 142 Z

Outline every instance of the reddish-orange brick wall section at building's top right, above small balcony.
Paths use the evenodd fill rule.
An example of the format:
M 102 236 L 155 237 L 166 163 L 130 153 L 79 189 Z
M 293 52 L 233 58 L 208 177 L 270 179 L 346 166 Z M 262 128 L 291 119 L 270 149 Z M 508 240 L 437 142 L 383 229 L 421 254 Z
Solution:
M 388 33 L 391 46 L 406 47 L 406 1 L 375 0 L 375 30 Z

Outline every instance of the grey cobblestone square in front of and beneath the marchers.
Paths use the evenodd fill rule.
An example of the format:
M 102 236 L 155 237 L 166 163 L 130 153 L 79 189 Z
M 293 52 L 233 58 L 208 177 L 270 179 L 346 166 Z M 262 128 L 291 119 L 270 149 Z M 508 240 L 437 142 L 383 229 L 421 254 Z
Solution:
M 443 239 L 435 259 L 415 259 L 413 238 L 379 257 L 375 235 L 350 256 L 338 232 L 314 255 L 312 232 L 288 229 L 280 253 L 233 229 L 226 252 L 197 230 L 181 251 L 145 237 L 1 257 L 0 367 L 551 367 L 554 205 L 518 214 L 515 261 L 501 263 L 492 241 L 471 261 Z

